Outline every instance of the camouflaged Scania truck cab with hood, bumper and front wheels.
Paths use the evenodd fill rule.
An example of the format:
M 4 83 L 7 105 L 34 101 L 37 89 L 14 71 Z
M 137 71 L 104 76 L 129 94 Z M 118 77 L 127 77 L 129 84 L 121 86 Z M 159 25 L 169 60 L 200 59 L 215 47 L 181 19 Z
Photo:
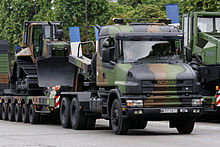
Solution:
M 91 91 L 89 111 L 109 120 L 115 134 L 153 120 L 169 120 L 170 127 L 189 134 L 203 107 L 183 51 L 183 33 L 174 26 L 119 23 L 100 29 L 92 60 L 70 56 L 70 62 L 80 69 L 76 76 L 84 77 L 75 83 L 84 79 L 81 85 Z

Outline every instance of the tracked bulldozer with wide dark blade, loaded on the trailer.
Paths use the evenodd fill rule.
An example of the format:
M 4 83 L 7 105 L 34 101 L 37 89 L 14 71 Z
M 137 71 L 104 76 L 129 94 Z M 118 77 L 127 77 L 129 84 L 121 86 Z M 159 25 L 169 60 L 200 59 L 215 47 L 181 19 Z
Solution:
M 63 40 L 62 27 L 59 21 L 23 23 L 22 46 L 15 50 L 10 93 L 42 95 L 45 87 L 60 83 L 71 86 L 70 45 Z

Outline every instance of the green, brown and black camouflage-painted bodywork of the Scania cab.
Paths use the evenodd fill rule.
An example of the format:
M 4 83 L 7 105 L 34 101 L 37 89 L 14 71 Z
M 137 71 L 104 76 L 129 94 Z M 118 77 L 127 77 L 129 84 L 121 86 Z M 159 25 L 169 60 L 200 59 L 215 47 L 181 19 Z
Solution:
M 120 32 L 178 32 L 163 24 L 113 25 L 104 27 L 99 38 L 113 37 Z M 97 51 L 96 81 L 99 87 L 116 87 L 126 95 L 143 95 L 145 107 L 189 106 L 191 98 L 199 98 L 199 83 L 192 69 L 185 63 L 177 64 L 115 64 L 102 62 L 100 45 Z M 107 65 L 108 64 L 108 65 Z M 194 81 L 194 83 L 193 83 Z M 187 83 L 188 82 L 188 83 Z M 197 87 L 194 89 L 194 87 Z M 188 93 L 189 96 L 184 94 Z

